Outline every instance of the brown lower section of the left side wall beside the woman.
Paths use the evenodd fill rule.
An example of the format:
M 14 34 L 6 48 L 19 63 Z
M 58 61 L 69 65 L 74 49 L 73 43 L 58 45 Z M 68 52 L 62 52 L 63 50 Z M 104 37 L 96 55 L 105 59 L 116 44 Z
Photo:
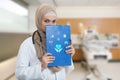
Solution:
M 20 44 L 28 36 L 24 33 L 0 33 L 0 62 L 15 57 Z

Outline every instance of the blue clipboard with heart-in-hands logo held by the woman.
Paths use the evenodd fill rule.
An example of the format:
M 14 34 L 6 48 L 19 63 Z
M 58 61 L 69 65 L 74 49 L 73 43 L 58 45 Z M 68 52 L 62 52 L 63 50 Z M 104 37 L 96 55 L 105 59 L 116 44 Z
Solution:
M 69 25 L 46 26 L 46 52 L 55 56 L 53 63 L 48 66 L 71 65 L 71 55 L 67 54 L 66 46 L 71 44 L 71 32 Z

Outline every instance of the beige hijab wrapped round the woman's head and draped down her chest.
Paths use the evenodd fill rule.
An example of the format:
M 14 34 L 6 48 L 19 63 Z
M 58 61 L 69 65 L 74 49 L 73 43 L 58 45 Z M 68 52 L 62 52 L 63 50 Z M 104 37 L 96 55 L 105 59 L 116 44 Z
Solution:
M 42 20 L 46 14 L 49 12 L 55 12 L 55 8 L 48 4 L 43 4 L 40 7 L 38 7 L 35 15 L 35 22 L 37 26 L 37 31 L 33 34 L 33 41 L 35 45 L 35 49 L 37 52 L 37 57 L 41 61 L 41 58 L 44 54 L 46 54 L 46 37 L 45 37 L 45 31 L 42 29 Z M 49 69 L 52 72 L 58 72 L 62 69 L 62 67 L 49 67 Z

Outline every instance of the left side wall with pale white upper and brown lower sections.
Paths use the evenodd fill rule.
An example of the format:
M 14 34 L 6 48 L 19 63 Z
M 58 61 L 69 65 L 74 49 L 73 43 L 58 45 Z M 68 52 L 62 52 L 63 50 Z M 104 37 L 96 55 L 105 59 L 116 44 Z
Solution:
M 7 2 L 1 4 L 7 5 Z M 21 42 L 29 33 L 27 15 L 14 13 L 10 9 L 0 6 L 0 62 L 16 56 Z

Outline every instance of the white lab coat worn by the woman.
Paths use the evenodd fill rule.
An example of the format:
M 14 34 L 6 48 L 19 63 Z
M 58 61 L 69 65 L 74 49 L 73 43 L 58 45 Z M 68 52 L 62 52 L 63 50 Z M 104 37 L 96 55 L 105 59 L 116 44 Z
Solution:
M 41 71 L 41 62 L 37 58 L 32 37 L 26 39 L 20 46 L 16 63 L 17 80 L 66 80 L 66 74 L 73 69 L 72 62 L 71 66 L 66 66 L 56 74 L 48 68 Z

